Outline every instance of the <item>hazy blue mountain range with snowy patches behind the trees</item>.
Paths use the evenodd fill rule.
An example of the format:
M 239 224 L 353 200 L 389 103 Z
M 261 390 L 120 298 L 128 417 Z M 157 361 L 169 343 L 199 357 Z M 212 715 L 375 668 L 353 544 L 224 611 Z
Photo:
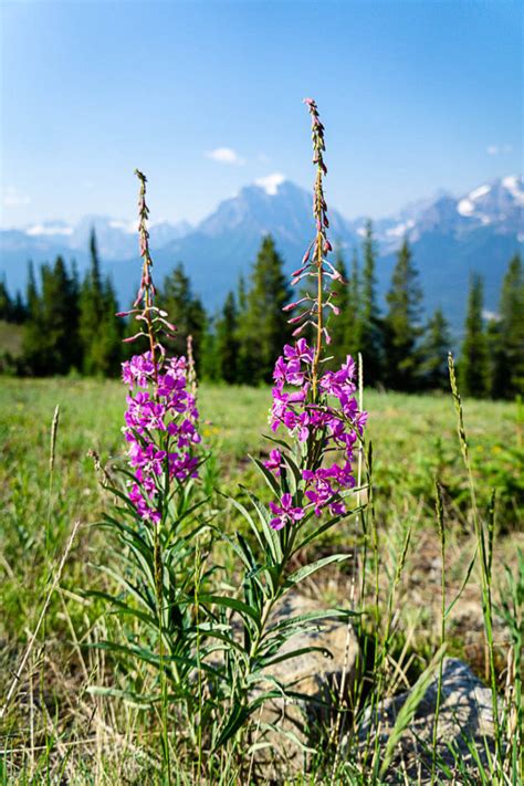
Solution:
M 227 291 L 237 286 L 239 275 L 249 272 L 265 233 L 273 235 L 286 270 L 296 268 L 314 232 L 311 207 L 310 192 L 273 178 L 243 188 L 196 227 L 187 222 L 153 224 L 156 279 L 161 281 L 177 262 L 184 262 L 195 291 L 214 310 Z M 376 220 L 380 295 L 389 284 L 395 253 L 407 235 L 428 312 L 441 305 L 454 329 L 460 329 L 471 271 L 484 276 L 485 307 L 495 312 L 510 256 L 522 250 L 523 207 L 523 179 L 512 175 L 460 198 L 439 193 Z M 353 249 L 361 243 L 365 219 L 348 220 L 329 209 L 329 220 L 331 238 L 349 262 Z M 0 230 L 0 275 L 6 276 L 10 291 L 24 287 L 30 259 L 39 264 L 61 253 L 75 259 L 82 272 L 88 263 L 92 227 L 104 270 L 120 301 L 128 301 L 139 274 L 136 224 L 105 216 L 88 216 L 76 226 L 49 221 L 23 230 Z

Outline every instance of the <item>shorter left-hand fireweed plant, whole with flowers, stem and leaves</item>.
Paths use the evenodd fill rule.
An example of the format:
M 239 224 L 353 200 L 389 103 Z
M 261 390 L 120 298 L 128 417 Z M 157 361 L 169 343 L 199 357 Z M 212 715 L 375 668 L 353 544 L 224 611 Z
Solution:
M 119 484 L 105 483 L 117 500 L 114 511 L 105 515 L 105 525 L 119 543 L 119 567 L 106 572 L 122 593 L 91 594 L 109 601 L 135 628 L 126 643 L 99 644 L 125 663 L 126 690 L 94 690 L 160 708 L 164 763 L 169 767 L 168 706 L 176 703 L 186 719 L 197 712 L 196 692 L 189 685 L 197 659 L 205 654 L 199 649 L 193 599 L 196 581 L 206 579 L 195 558 L 196 541 L 207 531 L 200 517 L 206 500 L 193 499 L 201 458 L 192 354 L 188 359 L 168 357 L 161 343 L 176 328 L 155 306 L 146 177 L 138 170 L 136 175 L 142 280 L 133 308 L 117 316 L 132 317 L 139 325 L 125 340 L 144 339 L 147 348 L 123 364 L 122 378 L 128 388 L 123 428 L 127 465 L 119 469 Z M 145 690 L 144 668 L 136 668 L 137 663 L 146 671 L 154 667 L 157 677 L 150 690 Z M 186 726 L 192 729 L 192 723 Z

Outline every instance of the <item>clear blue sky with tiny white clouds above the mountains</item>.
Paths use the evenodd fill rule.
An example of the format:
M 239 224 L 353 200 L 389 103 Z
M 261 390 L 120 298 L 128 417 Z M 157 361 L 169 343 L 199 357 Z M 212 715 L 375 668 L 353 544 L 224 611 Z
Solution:
M 3 227 L 199 220 L 280 174 L 311 187 L 302 98 L 326 125 L 328 202 L 394 212 L 522 168 L 518 2 L 3 0 Z

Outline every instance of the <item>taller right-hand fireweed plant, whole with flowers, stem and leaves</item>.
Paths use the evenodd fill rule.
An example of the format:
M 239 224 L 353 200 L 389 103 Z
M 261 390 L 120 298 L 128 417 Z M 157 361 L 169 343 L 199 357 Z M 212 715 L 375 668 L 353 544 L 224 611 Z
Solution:
M 313 216 L 316 234 L 307 249 L 302 264 L 293 273 L 292 283 L 307 279 L 314 285 L 314 294 L 306 294 L 284 311 L 298 312 L 290 317 L 294 326 L 293 344 L 283 347 L 283 354 L 274 367 L 274 387 L 270 426 L 273 443 L 266 461 L 254 460 L 263 474 L 273 499 L 269 506 L 247 490 L 250 510 L 233 500 L 233 504 L 248 521 L 254 533 L 254 542 L 238 535 L 233 544 L 240 556 L 244 575 L 243 597 L 208 597 L 222 611 L 233 609 L 242 620 L 242 637 L 234 636 L 224 625 L 223 614 L 217 615 L 217 626 L 210 633 L 223 642 L 226 650 L 223 682 L 229 685 L 230 712 L 224 716 L 216 747 L 228 740 L 242 738 L 249 729 L 248 719 L 261 709 L 264 702 L 285 696 L 300 699 L 293 685 L 277 681 L 271 667 L 284 660 L 323 648 L 301 649 L 282 646 L 298 631 L 311 629 L 319 619 L 339 617 L 348 619 L 354 611 L 328 609 L 310 612 L 295 618 L 280 618 L 277 604 L 283 596 L 308 576 L 331 564 L 346 559 L 348 554 L 334 554 L 298 569 L 292 569 L 292 560 L 304 547 L 318 538 L 329 527 L 355 513 L 358 506 L 349 507 L 348 497 L 356 492 L 354 460 L 363 443 L 367 413 L 358 408 L 355 398 L 355 363 L 348 356 L 336 370 L 328 370 L 326 352 L 329 344 L 328 314 L 338 314 L 331 290 L 339 273 L 327 261 L 332 245 L 327 238 L 328 219 L 323 191 L 326 175 L 324 163 L 324 126 L 318 117 L 315 102 L 305 103 L 312 119 L 312 139 L 316 166 L 313 199 Z M 314 346 L 301 335 L 313 328 Z M 296 560 L 293 560 L 296 565 Z M 327 651 L 325 654 L 329 654 Z M 275 729 L 271 723 L 256 723 L 259 732 Z M 241 730 L 240 734 L 237 732 Z M 279 730 L 285 734 L 284 730 Z M 233 747 L 235 742 L 232 743 Z M 255 746 L 260 737 L 253 741 Z M 242 750 L 243 746 L 242 746 Z

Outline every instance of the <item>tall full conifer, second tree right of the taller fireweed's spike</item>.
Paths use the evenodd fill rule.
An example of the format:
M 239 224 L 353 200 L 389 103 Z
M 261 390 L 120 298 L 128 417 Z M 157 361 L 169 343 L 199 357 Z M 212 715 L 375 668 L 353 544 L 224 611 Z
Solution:
M 420 335 L 422 290 L 407 239 L 397 255 L 391 286 L 386 295 L 386 382 L 396 390 L 413 390 L 417 370 L 417 338 Z

